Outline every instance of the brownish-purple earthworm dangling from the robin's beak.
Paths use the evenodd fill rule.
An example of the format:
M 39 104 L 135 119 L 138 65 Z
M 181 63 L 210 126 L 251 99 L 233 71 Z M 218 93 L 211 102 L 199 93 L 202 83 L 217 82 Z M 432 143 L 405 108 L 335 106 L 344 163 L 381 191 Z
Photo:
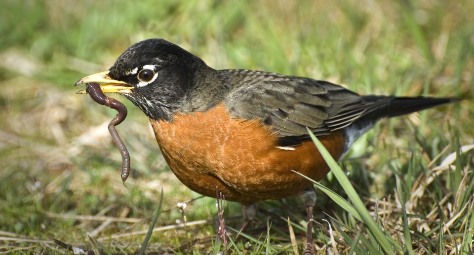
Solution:
M 116 99 L 106 96 L 100 89 L 99 83 L 87 83 L 85 91 L 89 93 L 90 97 L 95 102 L 110 107 L 112 109 L 116 109 L 118 111 L 117 116 L 109 123 L 109 133 L 112 136 L 114 144 L 118 147 L 118 149 L 120 150 L 120 154 L 122 155 L 121 178 L 122 182 L 125 182 L 128 178 L 128 174 L 130 173 L 130 155 L 128 154 L 127 147 L 125 147 L 122 140 L 118 136 L 118 132 L 115 129 L 115 126 L 122 123 L 122 121 L 125 119 L 125 117 L 127 116 L 127 108 L 122 103 L 118 102 Z

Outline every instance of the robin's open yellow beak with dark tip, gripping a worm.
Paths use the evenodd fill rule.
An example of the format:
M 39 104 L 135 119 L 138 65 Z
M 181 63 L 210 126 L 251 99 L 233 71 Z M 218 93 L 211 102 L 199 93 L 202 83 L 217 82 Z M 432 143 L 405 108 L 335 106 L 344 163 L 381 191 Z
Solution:
M 82 83 L 92 83 L 97 82 L 100 84 L 100 89 L 102 92 L 114 92 L 114 93 L 125 93 L 130 94 L 132 93 L 133 86 L 130 86 L 124 81 L 114 80 L 109 76 L 109 71 L 101 72 L 101 73 L 94 73 L 89 76 L 86 76 L 78 82 L 74 86 L 77 86 Z M 87 94 L 84 90 L 78 91 L 76 94 Z

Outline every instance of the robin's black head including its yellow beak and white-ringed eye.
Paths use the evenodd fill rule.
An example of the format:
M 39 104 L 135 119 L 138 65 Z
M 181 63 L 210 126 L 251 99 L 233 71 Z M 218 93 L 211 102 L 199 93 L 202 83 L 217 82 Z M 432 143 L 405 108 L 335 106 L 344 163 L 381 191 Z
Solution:
M 163 39 L 147 39 L 123 52 L 109 69 L 80 79 L 97 82 L 103 92 L 121 93 L 153 119 L 169 119 L 180 111 L 195 75 L 205 63 Z M 78 93 L 85 93 L 79 91 Z

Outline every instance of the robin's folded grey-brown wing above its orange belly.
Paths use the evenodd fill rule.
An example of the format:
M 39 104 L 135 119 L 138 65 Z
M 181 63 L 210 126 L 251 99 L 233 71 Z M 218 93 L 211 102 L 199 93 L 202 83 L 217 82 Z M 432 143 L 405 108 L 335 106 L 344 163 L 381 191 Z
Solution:
M 316 136 L 327 135 L 387 104 L 366 101 L 327 81 L 248 70 L 221 72 L 230 73 L 225 103 L 231 115 L 260 119 L 282 138 L 307 138 L 306 127 Z

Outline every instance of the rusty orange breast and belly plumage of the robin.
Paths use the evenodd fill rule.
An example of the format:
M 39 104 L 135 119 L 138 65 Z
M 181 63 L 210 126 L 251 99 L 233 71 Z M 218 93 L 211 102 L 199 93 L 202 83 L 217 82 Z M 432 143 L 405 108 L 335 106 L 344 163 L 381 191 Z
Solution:
M 277 147 L 271 128 L 232 118 L 221 104 L 206 112 L 177 114 L 173 122 L 151 120 L 161 152 L 178 179 L 192 190 L 248 204 L 299 194 L 319 181 L 328 166 L 312 141 L 295 150 Z M 342 131 L 320 138 L 335 159 L 344 152 Z

